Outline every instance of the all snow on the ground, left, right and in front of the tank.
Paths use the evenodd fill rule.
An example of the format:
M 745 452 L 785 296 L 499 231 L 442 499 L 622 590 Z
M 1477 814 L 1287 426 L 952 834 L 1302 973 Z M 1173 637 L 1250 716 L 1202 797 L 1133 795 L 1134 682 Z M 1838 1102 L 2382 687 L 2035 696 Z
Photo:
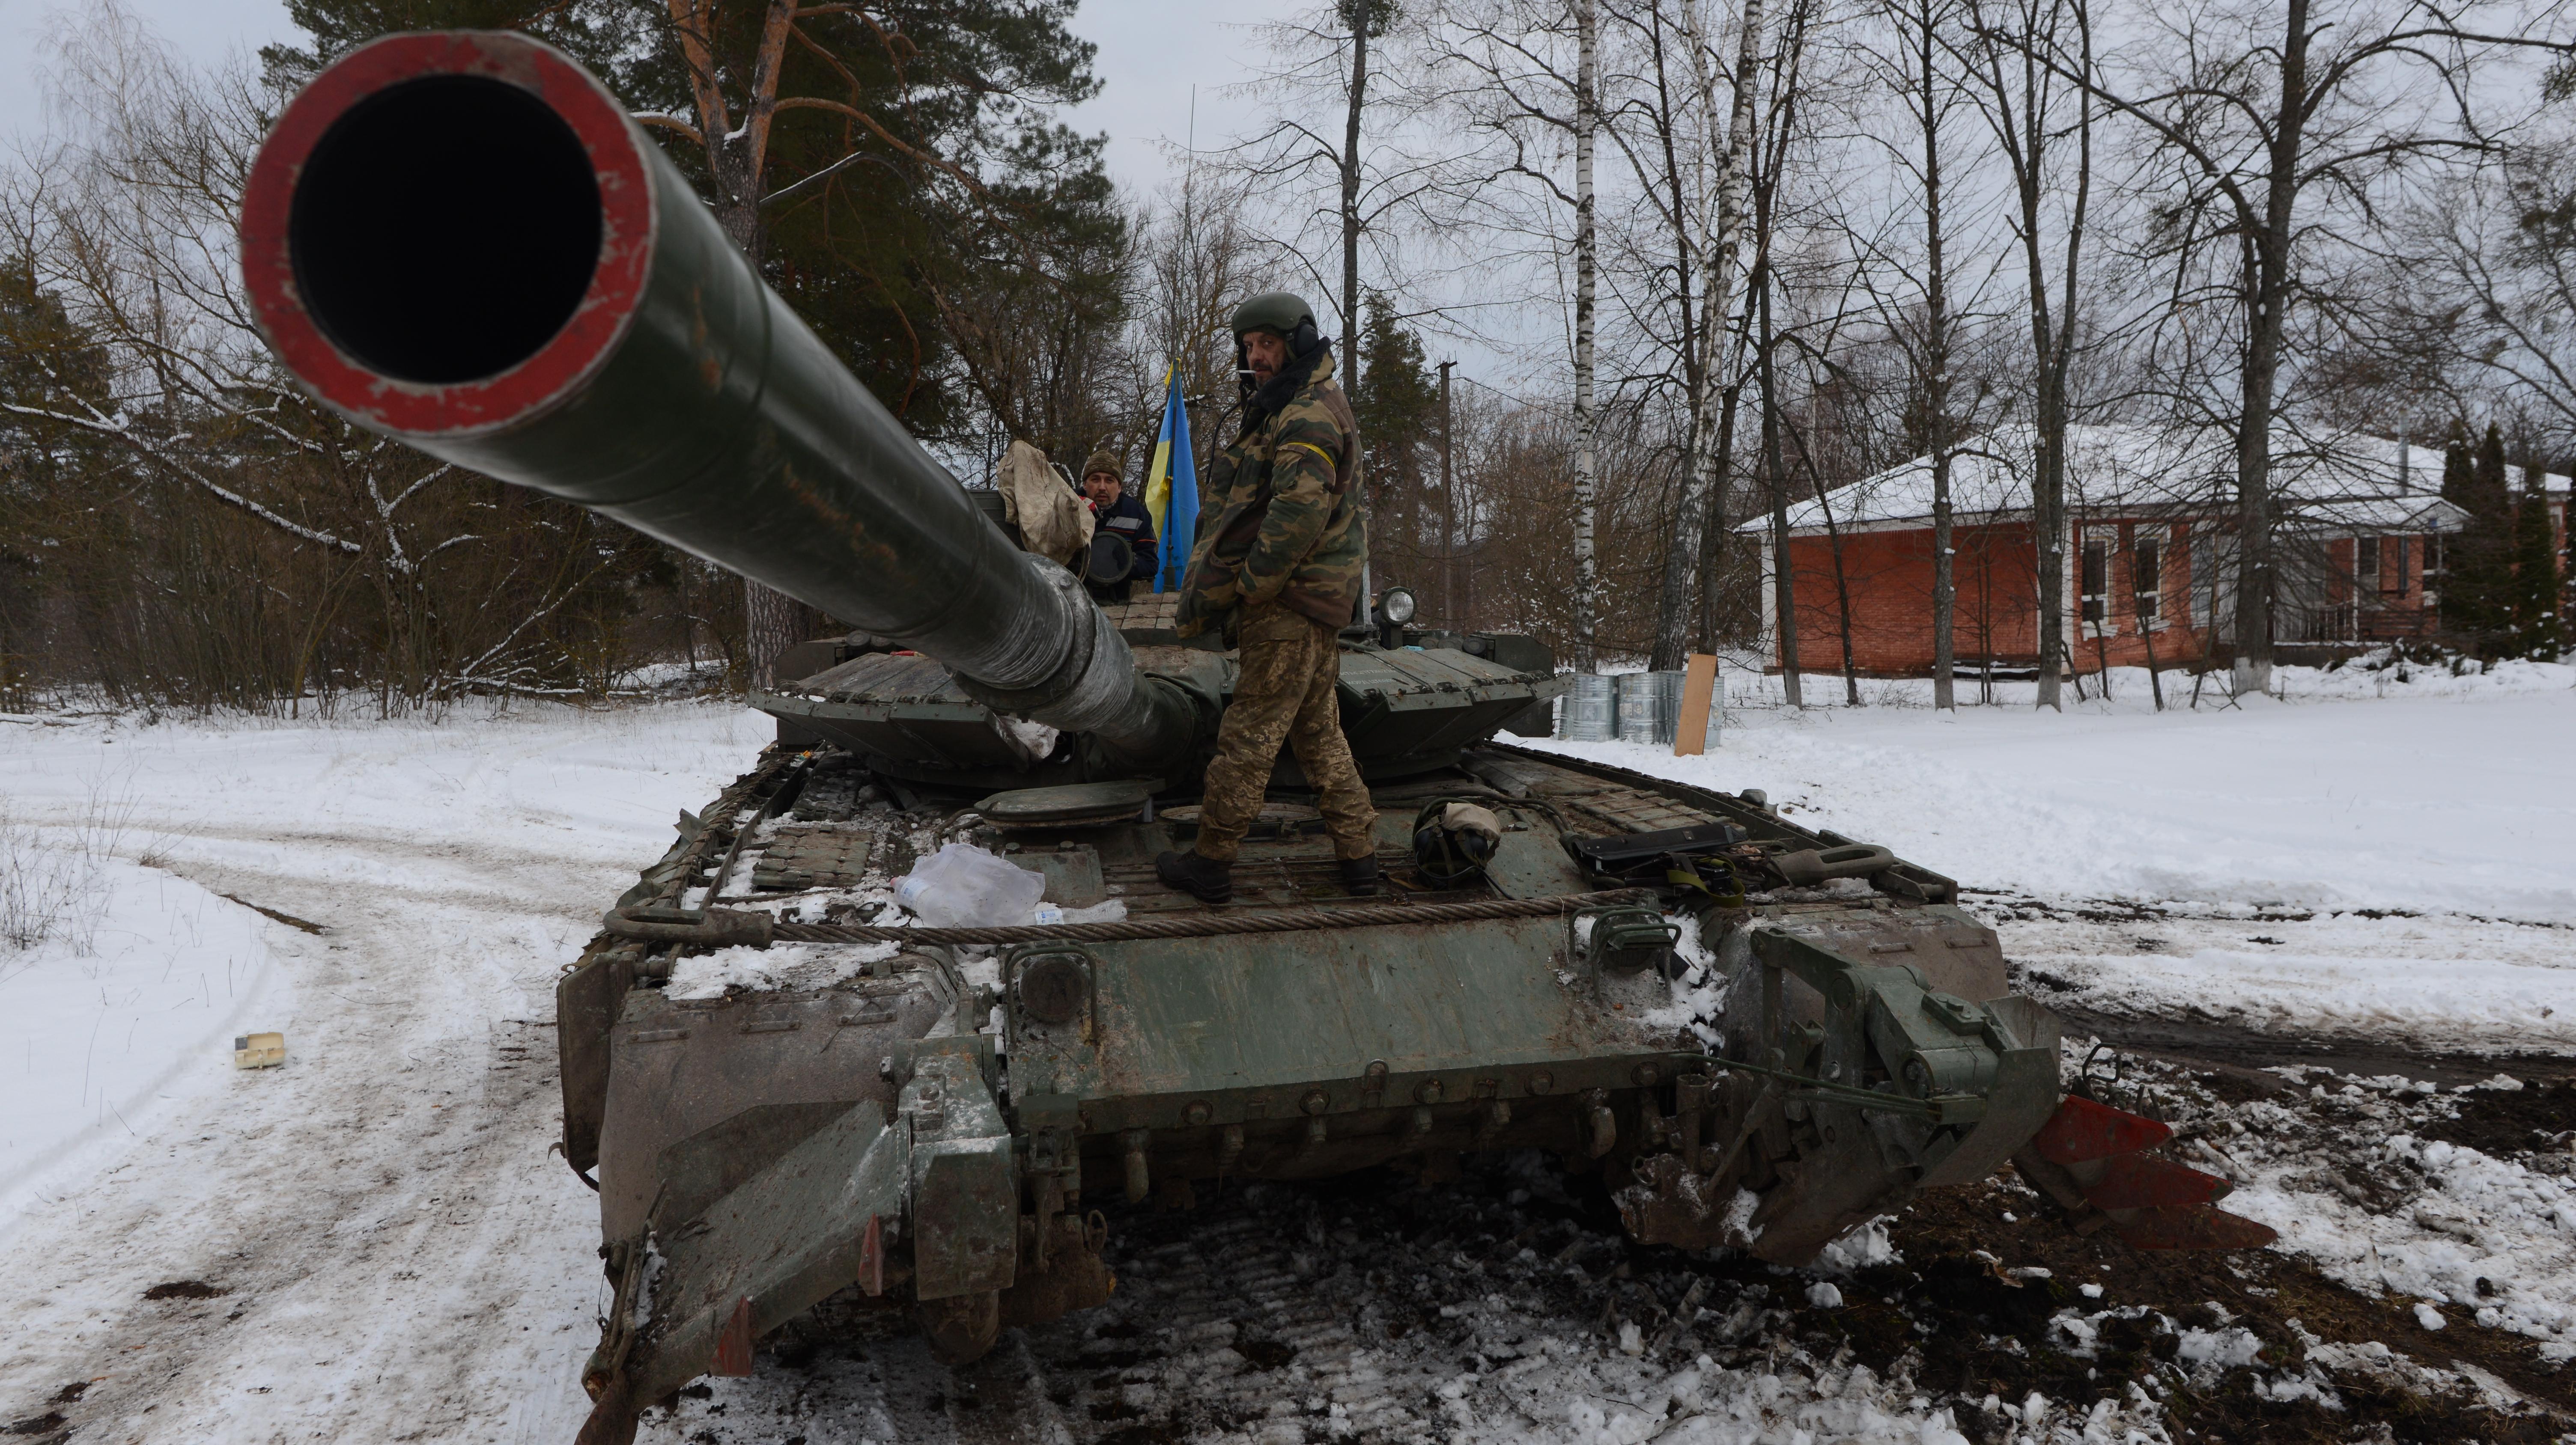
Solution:
M 1955 719 L 1870 685 L 1868 708 L 1739 706 L 1705 760 L 1577 750 L 1767 788 L 1790 817 L 1991 889 L 1971 902 L 2030 976 L 2105 1012 L 2197 1012 L 2452 1053 L 2576 1053 L 2571 683 L 2568 670 L 2290 675 L 2290 701 L 2154 713 L 2143 677 L 2120 677 L 2107 706 Z M 1839 680 L 1814 680 L 1814 695 L 1839 695 Z M 549 989 L 598 909 L 662 853 L 675 811 L 703 806 L 765 734 L 755 713 L 701 703 L 520 708 L 438 726 L 5 726 L 8 817 L 67 829 L 108 791 L 126 824 L 95 950 L 0 950 L 0 1077 L 44 1079 L 44 1092 L 8 1095 L 0 1131 L 10 1149 L 36 1141 L 0 1180 L 0 1208 L 15 1208 L 0 1216 L 0 1424 L 57 1409 L 77 1417 L 80 1440 L 569 1440 L 600 1301 L 592 1195 L 549 1154 Z M 237 958 L 229 999 L 216 956 Z M 183 989 L 191 968 L 204 976 L 196 994 Z M 229 1033 L 250 1028 L 286 1033 L 283 1069 L 232 1069 Z M 72 1077 L 82 1061 L 85 1082 Z M 2349 1105 L 2352 1128 L 2385 1138 L 2375 1167 L 2398 1182 L 2370 1187 L 2419 1190 L 2411 1203 L 2321 1193 L 2318 1157 L 2298 1138 L 2267 1151 L 2210 1133 L 2239 1157 L 2244 1208 L 2282 1221 L 2287 1244 L 2334 1278 L 2424 1298 L 2455 1332 L 2483 1308 L 2496 1329 L 2568 1339 L 2576 1203 L 2563 1177 L 2427 1144 L 2424 1120 L 2465 1095 L 2388 1082 L 2372 1097 L 2393 1102 Z M 36 1151 L 46 1162 L 31 1164 Z M 1255 1213 L 1314 1216 L 1298 1198 Z M 1540 1218 L 1502 1200 L 1473 1208 L 1507 1236 L 1522 1234 L 1512 1221 Z M 2324 1223 L 2347 1213 L 2349 1226 Z M 1417 1247 L 1404 1231 L 1311 1218 L 1280 1239 L 1262 1218 L 1242 1223 L 1252 1234 L 1242 1260 L 1226 1257 L 1231 1275 L 1193 1275 L 1190 1260 L 1218 1260 L 1221 1242 L 1141 1239 L 1121 1262 L 1133 1293 L 1121 1290 L 1131 1306 L 1113 1308 L 1115 1329 L 1198 1350 L 1175 1355 L 1177 1373 L 1151 1388 L 1257 1406 L 1226 1430 L 1321 1440 L 1396 1406 L 1479 1440 L 1641 1440 L 1669 1424 L 1667 1440 L 1806 1430 L 1911 1442 L 1968 1427 L 1940 1391 L 1801 1360 L 1785 1334 L 1762 1345 L 1780 1311 L 1832 1308 L 1801 1280 L 1775 1290 L 1777 1308 L 1754 1303 L 1759 1293 L 1710 1296 L 1734 1314 L 1698 1327 L 1708 1350 L 1772 1350 L 1770 1365 L 1677 1370 L 1656 1363 L 1662 1327 L 1628 1352 L 1595 1296 L 1566 1293 L 1569 1270 L 1625 1280 L 1625 1267 L 1613 1272 L 1615 1247 L 1587 1244 L 1561 1218 L 1528 1247 L 1479 1244 L 1476 1260 L 1494 1265 L 1435 1249 L 1435 1234 Z M 1381 1350 L 1352 1334 L 1394 1298 L 1386 1290 L 1414 1288 L 1414 1252 L 1419 1278 L 1458 1290 L 1435 1314 L 1481 1321 L 1492 1347 L 1473 1360 L 1427 1337 Z M 1301 1363 L 1265 1373 L 1255 1355 L 1190 1345 L 1190 1311 L 1252 1288 L 1244 1260 L 1270 1254 L 1278 1267 L 1255 1283 L 1285 1301 L 1280 1319 L 1321 1311 L 1293 1327 L 1309 1334 L 1280 1324 L 1280 1339 L 1314 1342 L 1298 1345 Z M 2506 1267 L 2506 1293 L 2478 1293 Z M 1365 1283 L 1378 1275 L 1394 1283 Z M 1363 1280 L 1350 1285 L 1358 1314 L 1327 1308 L 1340 1298 L 1329 1280 Z M 147 1298 L 167 1283 L 204 1288 Z M 1847 1290 L 1860 1301 L 1860 1283 Z M 1092 1360 L 1123 1345 L 1084 1334 L 1092 1327 L 1113 1329 L 1074 1324 L 1069 1345 L 1046 1350 L 1064 1345 L 1082 1378 L 1108 1378 Z M 2187 1352 L 2236 1350 L 2208 1329 Z M 1005 1347 L 999 1368 L 1036 1360 L 1033 1347 Z M 1321 1360 L 1332 1373 L 1309 1373 Z M 850 1378 L 832 1386 L 832 1370 Z M 938 1404 L 956 1386 L 917 1345 L 832 1370 L 721 1383 L 647 1435 L 786 1440 L 804 1419 L 814 1445 L 976 1437 L 974 1412 Z M 2280 1388 L 2311 1388 L 2298 1381 L 2285 1373 Z M 1151 1417 L 1115 1404 L 1151 1388 L 1113 1386 L 1072 1437 L 1110 1430 L 1118 1409 Z M 1283 1414 L 1278 1391 L 1314 1399 L 1298 1393 Z M 1971 1432 L 2040 1440 L 2089 1419 L 2105 1437 L 2164 1437 L 2146 1396 L 2084 1412 L 2007 1399 Z

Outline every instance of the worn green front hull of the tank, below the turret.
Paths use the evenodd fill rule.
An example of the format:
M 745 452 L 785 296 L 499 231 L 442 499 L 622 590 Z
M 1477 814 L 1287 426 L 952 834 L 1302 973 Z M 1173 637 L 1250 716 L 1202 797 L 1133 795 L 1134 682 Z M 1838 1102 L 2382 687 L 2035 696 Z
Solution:
M 1427 883 L 1409 850 L 1443 798 L 1507 829 L 1466 886 Z M 1741 858 L 1852 847 L 1744 798 L 1489 742 L 1376 783 L 1376 804 L 1394 902 L 1342 896 L 1314 809 L 1280 788 L 1236 904 L 1206 909 L 1151 871 L 1188 845 L 1188 806 L 997 829 L 984 814 L 1007 796 L 904 801 L 858 755 L 773 747 L 562 984 L 564 1151 L 598 1169 L 611 1280 L 659 1254 L 683 1285 L 618 1285 L 587 1375 L 600 1437 L 698 1373 L 747 1370 L 760 1332 L 835 1296 L 909 1311 L 971 1357 L 1108 1296 L 1103 1208 L 1188 1208 L 1226 1180 L 1443 1180 L 1466 1154 L 1530 1149 L 1597 1175 L 1641 1242 L 1798 1265 L 1922 1187 L 2014 1154 L 2048 1167 L 2030 1146 L 2061 1108 L 2056 1023 L 2009 992 L 1950 878 L 1860 850 L 1865 878 L 1795 886 L 1795 865 L 1747 860 L 1767 886 L 1741 896 L 1618 886 L 1582 845 L 1716 827 Z M 760 940 L 801 961 L 714 984 L 696 966 L 711 945 L 634 932 L 868 920 L 948 837 L 1090 912 L 966 932 L 770 922 Z M 1700 943 L 1677 956 L 1685 925 Z M 1914 1061 L 1937 1077 L 1911 1084 Z M 848 1187 L 822 1198 L 814 1177 Z

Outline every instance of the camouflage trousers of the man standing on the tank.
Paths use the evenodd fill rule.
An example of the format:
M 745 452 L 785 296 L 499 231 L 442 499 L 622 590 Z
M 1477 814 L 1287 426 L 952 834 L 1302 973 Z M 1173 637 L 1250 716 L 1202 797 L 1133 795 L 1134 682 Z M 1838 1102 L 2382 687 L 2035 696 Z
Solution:
M 1234 863 L 1244 829 L 1262 811 L 1270 768 L 1280 742 L 1296 752 L 1296 765 L 1324 798 L 1324 827 L 1340 858 L 1376 853 L 1370 829 L 1378 811 L 1368 806 L 1368 786 L 1342 739 L 1342 641 L 1334 631 L 1278 603 L 1255 603 L 1242 613 L 1242 677 L 1234 701 L 1216 729 L 1216 760 L 1198 809 L 1198 853 Z

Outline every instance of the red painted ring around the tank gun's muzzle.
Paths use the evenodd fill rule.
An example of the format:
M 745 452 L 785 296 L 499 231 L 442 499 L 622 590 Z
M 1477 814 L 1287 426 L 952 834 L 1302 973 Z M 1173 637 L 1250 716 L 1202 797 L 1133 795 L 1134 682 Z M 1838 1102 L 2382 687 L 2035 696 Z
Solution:
M 572 126 L 600 183 L 600 260 L 554 340 L 518 366 L 456 384 L 397 381 L 340 350 L 296 291 L 289 219 L 304 162 L 361 100 L 435 75 L 515 85 Z M 242 191 L 242 281 L 252 317 L 304 386 L 361 425 L 407 435 L 474 435 L 546 412 L 608 361 L 652 268 L 654 196 L 647 144 L 598 80 L 544 41 L 507 31 L 433 31 L 366 44 L 314 77 L 278 116 Z

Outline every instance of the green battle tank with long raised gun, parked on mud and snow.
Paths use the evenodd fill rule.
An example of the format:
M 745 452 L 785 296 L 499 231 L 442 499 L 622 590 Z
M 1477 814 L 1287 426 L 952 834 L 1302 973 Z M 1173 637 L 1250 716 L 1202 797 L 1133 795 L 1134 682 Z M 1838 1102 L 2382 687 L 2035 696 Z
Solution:
M 325 70 L 250 173 L 242 268 L 353 422 L 858 628 L 752 698 L 778 742 L 562 979 L 562 1149 L 611 1290 L 582 1440 L 750 1373 L 822 1301 L 971 1360 L 1108 1298 L 1118 1200 L 1226 1180 L 1528 1149 L 1643 1244 L 1798 1265 L 2009 1159 L 2074 1229 L 2269 1239 L 2151 1154 L 2161 1126 L 2061 1095 L 2056 1020 L 1950 878 L 1502 742 L 1566 690 L 1525 636 L 1345 634 L 1386 896 L 1340 891 L 1285 760 L 1236 902 L 1164 889 L 1234 657 L 1018 551 L 538 41 Z M 948 842 L 1046 909 L 904 917 L 889 883 Z

